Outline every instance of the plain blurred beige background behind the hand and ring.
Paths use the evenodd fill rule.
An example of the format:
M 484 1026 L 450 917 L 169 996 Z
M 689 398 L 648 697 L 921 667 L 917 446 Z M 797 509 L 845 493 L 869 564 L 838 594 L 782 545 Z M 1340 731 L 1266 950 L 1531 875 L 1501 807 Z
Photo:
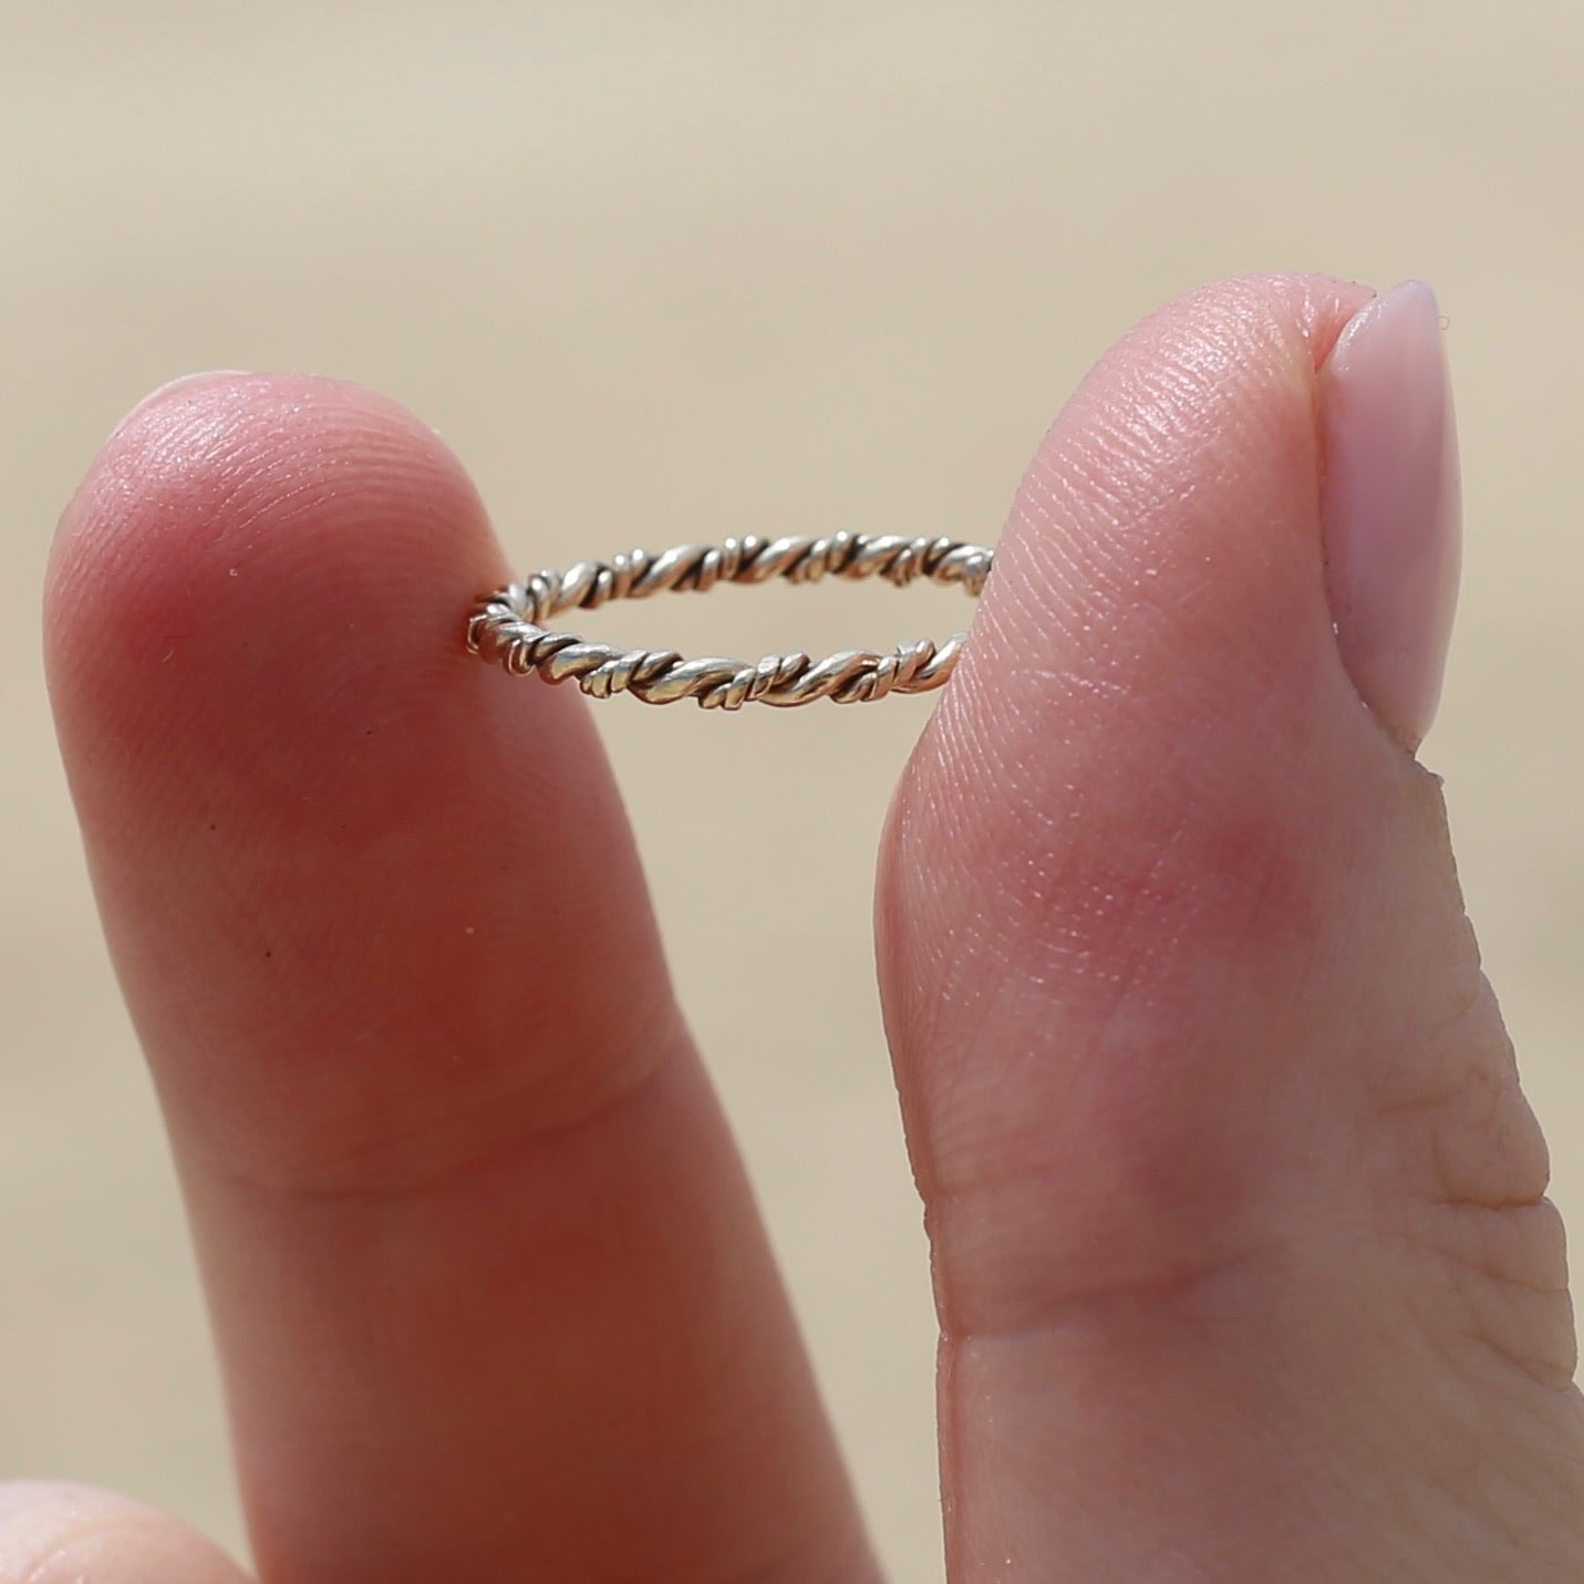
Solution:
M 1581 52 L 1571 0 L 0 11 L 0 1473 L 122 1486 L 239 1544 L 36 634 L 60 505 L 190 369 L 393 393 L 523 564 L 746 527 L 993 535 L 1074 382 L 1163 299 L 1245 269 L 1424 276 L 1468 505 L 1426 759 L 1584 1218 Z M 667 605 L 665 635 L 901 635 L 882 594 L 787 594 Z M 901 627 L 961 613 L 931 597 Z M 611 630 L 648 630 L 629 615 L 659 610 Z M 599 714 L 908 1584 L 941 1576 L 933 1324 L 868 917 L 927 710 Z

